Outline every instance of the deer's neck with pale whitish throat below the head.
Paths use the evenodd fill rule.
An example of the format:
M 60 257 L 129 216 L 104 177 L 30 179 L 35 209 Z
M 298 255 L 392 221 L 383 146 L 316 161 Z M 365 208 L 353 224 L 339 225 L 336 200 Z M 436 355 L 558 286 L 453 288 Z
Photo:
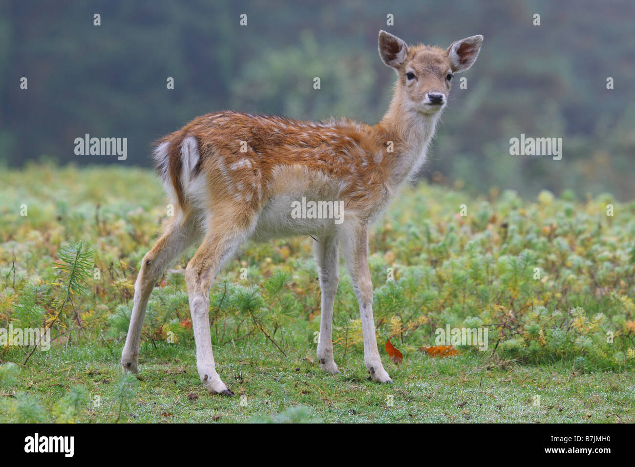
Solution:
M 408 109 L 399 95 L 392 98 L 384 118 L 378 123 L 380 138 L 394 142 L 394 154 L 388 154 L 391 180 L 398 186 L 417 174 L 425 162 L 425 152 L 434 137 L 441 112 L 431 115 Z M 385 144 L 385 142 L 384 142 Z

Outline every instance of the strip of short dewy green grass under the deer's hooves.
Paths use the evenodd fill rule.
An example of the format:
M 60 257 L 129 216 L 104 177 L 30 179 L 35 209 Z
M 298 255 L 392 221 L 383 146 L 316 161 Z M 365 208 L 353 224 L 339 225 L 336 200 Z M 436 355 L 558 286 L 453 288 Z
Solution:
M 119 416 L 116 381 L 121 347 L 69 346 L 41 353 L 23 369 L 18 390 L 53 407 L 82 384 L 91 400 L 77 421 L 112 423 Z M 632 373 L 579 374 L 549 367 L 498 365 L 486 355 L 432 358 L 415 354 L 387 363 L 394 385 L 370 381 L 363 355 L 336 360 L 329 376 L 306 346 L 284 358 L 272 344 L 244 342 L 215 347 L 221 377 L 236 396 L 210 396 L 199 382 L 191 345 L 144 344 L 139 386 L 120 421 L 136 423 L 632 423 Z M 6 394 L 4 394 L 6 396 Z M 392 402 L 391 402 L 392 396 Z M 536 396 L 540 396 L 539 403 Z

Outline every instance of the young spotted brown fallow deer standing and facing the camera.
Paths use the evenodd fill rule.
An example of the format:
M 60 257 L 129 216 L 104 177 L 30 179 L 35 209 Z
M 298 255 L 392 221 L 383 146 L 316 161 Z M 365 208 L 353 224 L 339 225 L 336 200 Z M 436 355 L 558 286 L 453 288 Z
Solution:
M 399 187 L 414 181 L 422 168 L 452 78 L 474 64 L 482 43 L 478 35 L 447 49 L 408 45 L 380 30 L 380 58 L 397 79 L 388 110 L 376 125 L 221 111 L 199 116 L 159 139 L 154 147 L 156 171 L 174 213 L 138 272 L 121 353 L 124 372 L 138 372 L 150 293 L 166 267 L 196 243 L 185 283 L 197 372 L 211 394 L 233 395 L 217 372 L 211 346 L 209 294 L 215 276 L 248 240 L 311 236 L 321 290 L 321 369 L 339 372 L 331 334 L 341 249 L 359 304 L 364 364 L 373 381 L 392 384 L 377 348 L 369 229 Z M 293 202 L 302 198 L 343 202 L 343 219 L 292 216 Z

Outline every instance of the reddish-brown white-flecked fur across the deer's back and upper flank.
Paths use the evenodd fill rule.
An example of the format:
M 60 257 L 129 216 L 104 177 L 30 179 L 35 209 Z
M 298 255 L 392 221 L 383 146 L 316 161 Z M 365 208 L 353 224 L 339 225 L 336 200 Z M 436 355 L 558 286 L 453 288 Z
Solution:
M 387 128 L 385 124 L 369 126 L 345 119 L 311 123 L 225 111 L 200 116 L 157 145 L 170 143 L 170 179 L 184 210 L 188 203 L 180 183 L 180 147 L 185 137 L 193 136 L 199 142 L 201 157 L 197 172 L 206 174 L 217 202 L 229 193 L 227 184 L 242 184 L 244 194 L 251 199 L 246 207 L 258 211 L 271 196 L 274 168 L 301 166 L 331 179 L 349 181 L 349 187 L 342 192 L 345 208 L 370 215 L 373 206 L 391 193 L 387 186 L 391 157 L 404 145 L 396 131 L 398 128 Z M 395 152 L 387 152 L 388 140 L 395 143 Z M 246 141 L 248 152 L 240 151 L 241 141 Z M 241 159 L 248 159 L 251 166 L 234 170 L 231 180 L 225 179 L 220 165 L 228 168 Z M 254 182 L 262 189 L 254 187 Z M 356 189 L 360 186 L 364 193 Z

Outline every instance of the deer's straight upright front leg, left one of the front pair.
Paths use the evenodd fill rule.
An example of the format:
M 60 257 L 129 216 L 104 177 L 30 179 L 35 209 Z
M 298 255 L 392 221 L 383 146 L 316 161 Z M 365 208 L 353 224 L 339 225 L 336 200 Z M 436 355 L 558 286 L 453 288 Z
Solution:
M 333 236 L 324 236 L 313 242 L 316 263 L 318 263 L 319 286 L 322 294 L 318 341 L 318 362 L 325 372 L 339 373 L 333 360 L 333 302 L 340 280 L 338 271 L 338 242 Z

